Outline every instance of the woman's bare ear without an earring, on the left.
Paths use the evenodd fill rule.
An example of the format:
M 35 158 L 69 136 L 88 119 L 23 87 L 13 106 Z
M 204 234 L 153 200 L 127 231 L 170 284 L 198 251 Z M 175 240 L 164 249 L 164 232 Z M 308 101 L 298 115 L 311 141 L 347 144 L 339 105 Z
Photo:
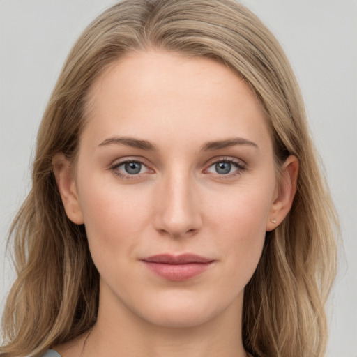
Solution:
M 73 175 L 73 167 L 63 153 L 57 153 L 52 159 L 54 176 L 59 188 L 67 217 L 77 225 L 84 223 L 82 209 L 79 204 L 77 187 Z

